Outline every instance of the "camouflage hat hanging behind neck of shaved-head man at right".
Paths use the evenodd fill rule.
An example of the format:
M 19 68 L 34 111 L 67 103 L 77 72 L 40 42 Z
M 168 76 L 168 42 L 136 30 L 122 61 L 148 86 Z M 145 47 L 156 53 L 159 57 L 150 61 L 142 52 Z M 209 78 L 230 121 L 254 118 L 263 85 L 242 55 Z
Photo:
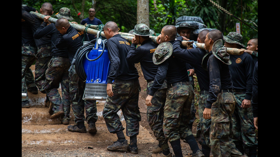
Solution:
M 221 60 L 223 63 L 230 65 L 231 60 L 229 59 L 229 54 L 227 53 L 227 47 L 223 46 L 223 40 L 219 39 L 213 44 L 212 48 L 213 55 Z

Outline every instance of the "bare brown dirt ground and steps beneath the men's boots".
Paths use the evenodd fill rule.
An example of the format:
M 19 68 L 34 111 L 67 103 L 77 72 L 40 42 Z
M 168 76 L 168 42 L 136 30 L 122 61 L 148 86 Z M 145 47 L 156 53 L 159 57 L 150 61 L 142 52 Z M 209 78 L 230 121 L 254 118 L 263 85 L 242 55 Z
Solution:
M 153 132 L 147 123 L 147 106 L 145 98 L 147 97 L 146 86 L 147 82 L 143 78 L 139 64 L 136 65 L 139 70 L 139 81 L 141 92 L 139 94 L 139 108 L 142 120 L 140 122 L 140 133 L 137 136 L 137 145 L 139 148 L 138 154 L 131 154 L 125 150 L 108 151 L 107 146 L 117 140 L 115 134 L 108 132 L 102 115 L 96 123 L 97 134 L 77 133 L 67 131 L 68 125 L 60 124 L 60 120 L 49 119 L 48 109 L 43 105 L 32 105 L 31 108 L 22 108 L 22 145 L 21 156 L 28 157 L 49 157 L 49 156 L 64 156 L 64 157 L 146 157 L 151 156 L 151 151 L 157 147 L 157 140 L 153 136 Z M 32 66 L 31 68 L 34 68 Z M 34 70 L 34 69 L 33 69 Z M 29 97 L 37 97 L 42 99 L 44 95 L 39 92 L 38 95 L 28 93 Z M 40 98 L 41 97 L 41 98 Z M 29 98 L 30 99 L 30 98 Z M 104 101 L 97 103 L 98 112 L 102 110 Z M 31 115 L 31 116 L 30 116 Z M 29 117 L 29 118 L 27 118 Z M 198 118 L 198 112 L 196 117 Z M 125 127 L 125 122 L 123 125 Z M 73 117 L 71 117 L 70 125 L 73 125 Z M 88 129 L 87 124 L 85 123 Z M 196 133 L 197 121 L 193 123 L 193 133 Z M 44 132 L 43 132 L 44 131 Z M 125 130 L 124 130 L 125 133 Z M 129 137 L 126 136 L 129 141 Z M 199 143 L 198 143 L 199 144 Z M 189 145 L 181 140 L 184 157 L 191 156 Z M 169 144 L 170 146 L 170 144 Z M 171 148 L 171 146 L 170 146 Z M 199 145 L 199 148 L 201 146 Z M 170 149 L 171 152 L 172 148 Z

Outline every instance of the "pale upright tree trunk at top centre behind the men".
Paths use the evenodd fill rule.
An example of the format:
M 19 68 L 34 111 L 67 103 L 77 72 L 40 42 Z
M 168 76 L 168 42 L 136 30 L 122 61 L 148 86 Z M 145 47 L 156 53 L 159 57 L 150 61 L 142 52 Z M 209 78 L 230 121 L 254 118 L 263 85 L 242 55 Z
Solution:
M 143 23 L 150 27 L 149 0 L 137 0 L 137 24 Z

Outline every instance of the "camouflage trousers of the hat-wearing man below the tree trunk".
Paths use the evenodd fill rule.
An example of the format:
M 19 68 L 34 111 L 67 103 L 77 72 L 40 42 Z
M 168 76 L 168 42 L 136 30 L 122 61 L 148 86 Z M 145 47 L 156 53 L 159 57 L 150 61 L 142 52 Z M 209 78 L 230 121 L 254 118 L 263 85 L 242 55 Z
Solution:
M 147 94 L 149 94 L 154 81 L 147 82 Z M 147 106 L 147 121 L 154 132 L 154 136 L 162 146 L 167 144 L 168 140 L 164 136 L 163 125 L 163 108 L 166 101 L 167 84 L 164 81 L 151 100 L 152 106 Z

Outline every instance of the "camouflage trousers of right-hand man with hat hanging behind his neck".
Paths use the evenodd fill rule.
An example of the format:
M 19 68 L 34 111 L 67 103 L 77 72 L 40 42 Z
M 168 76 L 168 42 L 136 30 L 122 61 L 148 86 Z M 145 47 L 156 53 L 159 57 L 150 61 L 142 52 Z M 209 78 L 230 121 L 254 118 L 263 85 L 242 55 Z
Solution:
M 233 93 L 221 92 L 211 108 L 210 145 L 213 157 L 242 156 L 232 139 L 231 117 L 234 112 Z

